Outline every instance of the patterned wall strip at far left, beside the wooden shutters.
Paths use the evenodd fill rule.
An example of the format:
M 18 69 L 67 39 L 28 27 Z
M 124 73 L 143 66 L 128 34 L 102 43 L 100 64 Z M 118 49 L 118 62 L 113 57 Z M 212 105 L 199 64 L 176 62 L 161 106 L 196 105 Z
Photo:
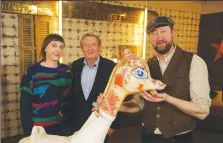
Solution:
M 1 13 L 1 137 L 21 134 L 18 15 Z

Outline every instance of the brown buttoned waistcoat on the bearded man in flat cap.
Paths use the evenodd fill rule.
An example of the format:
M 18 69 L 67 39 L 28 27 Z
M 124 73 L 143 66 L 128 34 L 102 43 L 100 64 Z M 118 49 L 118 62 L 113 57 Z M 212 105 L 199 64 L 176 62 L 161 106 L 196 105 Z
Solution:
M 190 66 L 193 54 L 176 47 L 164 74 L 161 74 L 157 57 L 149 60 L 151 77 L 164 82 L 167 86 L 163 91 L 170 96 L 190 101 Z M 146 102 L 143 110 L 143 124 L 149 132 L 158 127 L 165 137 L 171 137 L 195 128 L 195 119 L 175 106 L 166 103 Z

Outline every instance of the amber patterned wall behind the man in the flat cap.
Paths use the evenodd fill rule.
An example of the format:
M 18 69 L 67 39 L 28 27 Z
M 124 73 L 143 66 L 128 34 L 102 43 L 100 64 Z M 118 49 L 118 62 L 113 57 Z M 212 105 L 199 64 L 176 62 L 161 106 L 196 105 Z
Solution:
M 197 53 L 201 3 L 191 1 L 103 1 L 112 5 L 147 8 L 175 21 L 175 43 L 182 49 Z M 155 55 L 147 35 L 146 59 Z

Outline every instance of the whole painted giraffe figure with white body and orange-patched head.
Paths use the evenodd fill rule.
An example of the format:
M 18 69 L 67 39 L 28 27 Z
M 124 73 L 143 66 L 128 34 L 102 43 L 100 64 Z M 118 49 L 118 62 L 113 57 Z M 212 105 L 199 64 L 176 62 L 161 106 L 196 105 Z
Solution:
M 148 65 L 139 58 L 124 58 L 112 71 L 98 110 L 92 112 L 82 128 L 69 137 L 48 135 L 41 126 L 34 126 L 29 137 L 19 143 L 103 143 L 111 123 L 124 99 L 141 91 L 165 88 L 165 84 L 153 80 Z

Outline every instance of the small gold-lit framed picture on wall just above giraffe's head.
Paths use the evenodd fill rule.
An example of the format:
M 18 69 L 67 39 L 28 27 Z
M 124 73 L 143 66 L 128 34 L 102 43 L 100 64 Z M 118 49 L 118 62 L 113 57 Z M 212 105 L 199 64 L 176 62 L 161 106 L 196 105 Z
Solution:
M 139 46 L 138 45 L 119 45 L 118 49 L 118 59 L 122 59 L 124 55 L 129 53 L 136 53 L 139 55 Z

